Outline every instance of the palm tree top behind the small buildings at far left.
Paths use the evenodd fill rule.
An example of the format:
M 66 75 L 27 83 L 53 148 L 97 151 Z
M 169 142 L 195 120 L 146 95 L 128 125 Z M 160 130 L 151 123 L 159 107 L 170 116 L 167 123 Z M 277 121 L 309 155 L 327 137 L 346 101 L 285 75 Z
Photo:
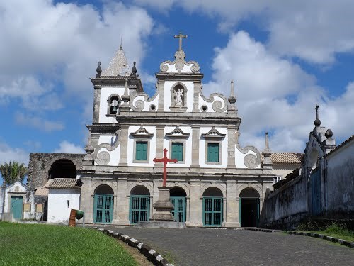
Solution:
M 19 162 L 5 162 L 4 165 L 0 165 L 0 173 L 4 179 L 4 183 L 9 185 L 16 181 L 22 181 L 27 174 L 27 167 Z

